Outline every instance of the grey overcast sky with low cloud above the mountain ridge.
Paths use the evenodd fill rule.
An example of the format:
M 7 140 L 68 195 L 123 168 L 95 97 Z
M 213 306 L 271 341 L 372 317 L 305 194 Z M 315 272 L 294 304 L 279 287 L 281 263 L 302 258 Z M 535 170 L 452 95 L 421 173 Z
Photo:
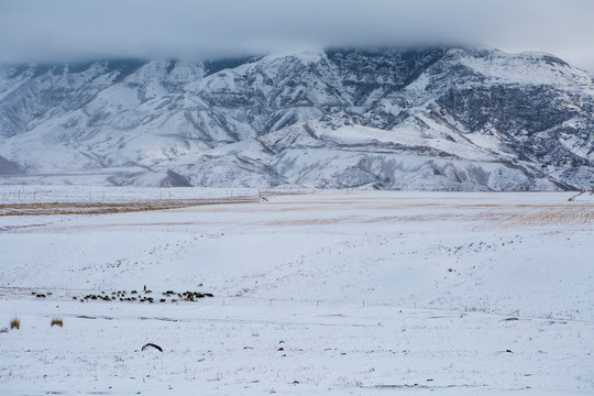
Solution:
M 472 44 L 594 73 L 594 0 L 0 0 L 0 63 Z

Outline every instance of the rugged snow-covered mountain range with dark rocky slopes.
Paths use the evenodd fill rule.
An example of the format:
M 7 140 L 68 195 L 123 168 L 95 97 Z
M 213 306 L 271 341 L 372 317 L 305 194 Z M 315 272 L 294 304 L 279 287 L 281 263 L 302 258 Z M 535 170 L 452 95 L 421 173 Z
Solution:
M 594 82 L 548 54 L 461 47 L 3 67 L 0 177 L 590 188 Z

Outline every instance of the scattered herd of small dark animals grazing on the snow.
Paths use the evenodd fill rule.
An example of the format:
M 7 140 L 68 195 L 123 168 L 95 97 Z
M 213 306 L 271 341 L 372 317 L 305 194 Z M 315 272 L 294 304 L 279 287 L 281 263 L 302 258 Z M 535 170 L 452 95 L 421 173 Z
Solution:
M 80 300 L 80 302 L 87 302 L 89 300 L 102 300 L 102 301 L 121 301 L 121 302 L 148 302 L 148 304 L 155 304 L 155 302 L 179 302 L 179 301 L 189 301 L 189 302 L 198 302 L 200 298 L 205 297 L 215 297 L 211 293 L 199 293 L 199 292 L 184 292 L 184 293 L 177 293 L 174 290 L 167 290 L 162 293 L 162 296 L 160 298 L 152 297 L 153 290 L 146 289 L 146 286 L 144 286 L 144 296 L 141 295 L 136 290 L 131 290 L 130 293 L 125 290 L 119 290 L 119 292 L 111 292 L 111 294 L 101 292 L 100 294 L 88 294 L 84 297 L 77 297 L 73 296 L 73 300 Z M 47 298 L 47 296 L 52 296 L 52 293 L 37 293 L 32 292 L 32 295 L 36 298 Z

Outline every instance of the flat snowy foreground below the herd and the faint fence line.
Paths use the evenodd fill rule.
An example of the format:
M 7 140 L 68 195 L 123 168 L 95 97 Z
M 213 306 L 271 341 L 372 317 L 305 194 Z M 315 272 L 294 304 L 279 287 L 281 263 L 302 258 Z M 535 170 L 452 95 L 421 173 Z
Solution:
M 592 392 L 594 340 L 583 322 L 232 301 L 166 310 L 48 301 L 20 308 L 22 329 L 2 334 L 8 395 L 160 395 L 169 387 L 216 395 Z M 96 316 L 78 317 L 90 309 Z M 64 328 L 50 327 L 56 315 Z M 146 342 L 164 353 L 140 351 Z

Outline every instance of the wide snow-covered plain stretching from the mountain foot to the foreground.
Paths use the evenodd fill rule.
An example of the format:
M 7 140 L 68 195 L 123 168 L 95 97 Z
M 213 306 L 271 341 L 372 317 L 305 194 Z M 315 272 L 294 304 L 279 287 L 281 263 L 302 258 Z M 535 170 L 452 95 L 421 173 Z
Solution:
M 594 196 L 287 193 L 0 186 L 0 394 L 594 394 Z

